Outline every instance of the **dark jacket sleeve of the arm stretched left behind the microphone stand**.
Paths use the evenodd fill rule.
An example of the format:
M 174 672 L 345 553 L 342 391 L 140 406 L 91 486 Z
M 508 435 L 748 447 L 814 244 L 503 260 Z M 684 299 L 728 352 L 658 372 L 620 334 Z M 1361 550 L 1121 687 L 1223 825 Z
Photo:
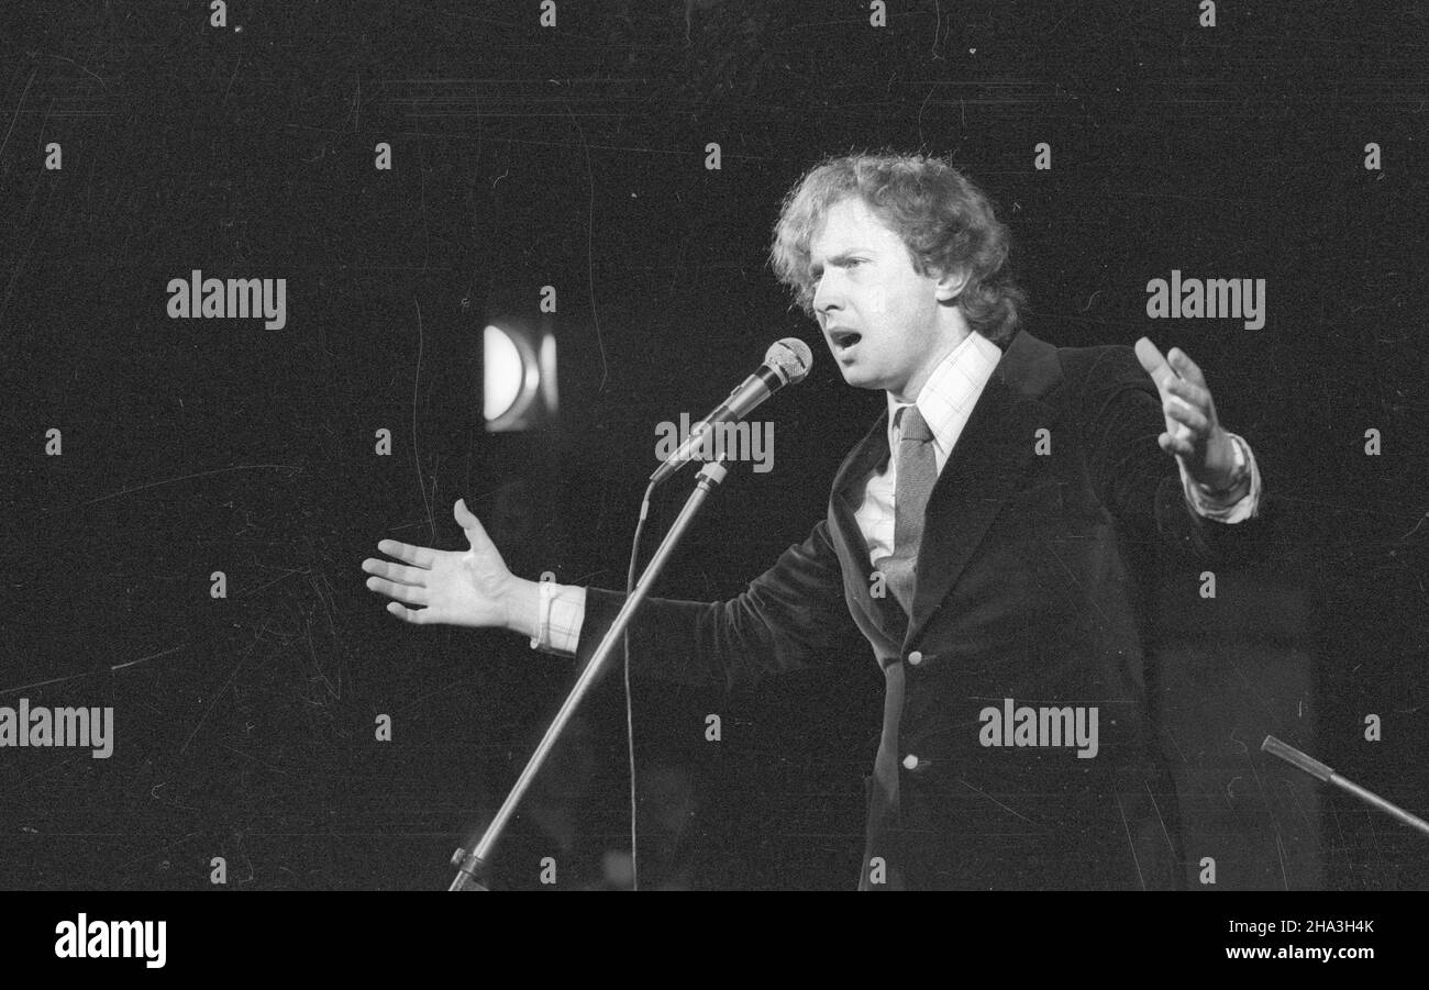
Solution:
M 587 589 L 576 657 L 589 663 L 623 591 Z M 729 601 L 646 599 L 629 626 L 634 674 L 726 689 L 819 659 L 852 627 L 826 521 Z M 616 656 L 619 656 L 619 649 Z

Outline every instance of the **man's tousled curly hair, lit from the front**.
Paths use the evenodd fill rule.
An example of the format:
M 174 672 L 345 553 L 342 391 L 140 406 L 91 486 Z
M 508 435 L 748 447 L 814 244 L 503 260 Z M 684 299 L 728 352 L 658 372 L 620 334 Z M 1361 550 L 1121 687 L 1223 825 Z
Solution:
M 1012 236 L 993 214 L 987 196 L 942 159 L 922 154 L 832 156 L 816 164 L 785 196 L 769 251 L 780 283 L 813 317 L 815 279 L 809 241 L 829 209 L 859 196 L 896 233 L 919 274 L 967 271 L 957 306 L 969 327 L 1006 346 L 1027 304 L 1007 270 Z

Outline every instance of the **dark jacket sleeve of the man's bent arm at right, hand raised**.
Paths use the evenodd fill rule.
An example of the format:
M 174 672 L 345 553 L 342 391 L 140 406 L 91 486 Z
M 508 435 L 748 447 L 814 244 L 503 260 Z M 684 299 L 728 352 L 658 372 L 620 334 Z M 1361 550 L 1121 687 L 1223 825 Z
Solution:
M 1176 460 L 1156 439 L 1165 430 L 1160 393 L 1130 347 L 1099 347 L 1079 383 L 1077 423 L 1093 491 L 1119 529 L 1185 563 L 1246 563 L 1273 520 L 1260 493 L 1256 516 L 1220 523 L 1195 511 Z

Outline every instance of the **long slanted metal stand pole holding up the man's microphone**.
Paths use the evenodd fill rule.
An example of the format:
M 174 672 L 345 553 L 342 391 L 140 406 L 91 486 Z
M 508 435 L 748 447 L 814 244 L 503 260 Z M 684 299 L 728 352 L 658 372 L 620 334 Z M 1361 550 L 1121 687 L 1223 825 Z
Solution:
M 560 737 L 562 731 L 564 731 L 566 723 L 569 723 L 570 717 L 576 713 L 576 706 L 580 704 L 580 700 L 596 681 L 602 667 L 606 666 L 606 660 L 612 653 L 614 653 L 616 646 L 624 634 L 626 626 L 629 626 L 630 620 L 634 619 L 636 610 L 650 593 L 650 586 L 654 584 L 654 580 L 660 576 L 664 564 L 674 553 L 674 547 L 680 541 L 680 537 L 684 536 L 690 523 L 694 521 L 694 514 L 700 510 L 706 496 L 714 489 L 714 486 L 725 480 L 727 473 L 729 469 L 726 467 L 725 460 L 712 461 L 700 470 L 699 477 L 696 479 L 694 491 L 690 493 L 690 497 L 686 500 L 679 517 L 670 526 L 670 531 L 666 533 L 664 540 L 660 541 L 654 556 L 650 557 L 650 563 L 646 566 L 644 573 L 640 574 L 640 581 L 636 584 L 634 591 L 630 593 L 624 604 L 620 607 L 620 611 L 616 614 L 614 621 L 610 623 L 610 629 L 606 630 L 606 636 L 600 640 L 600 646 L 596 647 L 596 653 L 592 656 L 590 663 L 586 664 L 580 677 L 576 679 L 576 686 L 570 689 L 570 694 L 556 713 L 556 719 L 550 723 L 550 729 L 546 730 L 546 734 L 536 746 L 536 751 L 532 753 L 532 759 L 526 763 L 526 769 L 522 770 L 522 776 L 516 779 L 516 784 L 506 796 L 506 800 L 497 810 L 496 817 L 492 819 L 492 824 L 486 827 L 486 833 L 482 836 L 482 840 L 472 849 L 470 853 L 464 849 L 459 849 L 452 854 L 452 866 L 457 867 L 457 873 L 447 890 L 486 890 L 477 877 L 487 866 L 492 847 L 496 846 L 496 840 L 500 839 L 502 833 L 506 830 L 506 824 L 510 821 L 517 803 L 520 803 L 522 797 L 526 794 L 526 789 L 530 787 L 532 780 L 536 779 L 536 773 L 540 770 L 542 763 L 546 761 L 546 757 L 550 754 L 552 747 L 554 747 L 556 740 Z

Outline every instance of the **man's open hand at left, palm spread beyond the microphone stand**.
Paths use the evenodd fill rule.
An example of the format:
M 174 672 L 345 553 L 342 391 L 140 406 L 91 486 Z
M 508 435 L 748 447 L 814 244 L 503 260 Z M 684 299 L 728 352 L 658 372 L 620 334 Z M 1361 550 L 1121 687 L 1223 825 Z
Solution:
M 476 516 L 467 511 L 464 500 L 457 500 L 452 514 L 466 531 L 470 550 L 433 550 L 382 540 L 377 550 L 402 563 L 373 557 L 363 560 L 362 569 L 373 574 L 367 587 L 396 599 L 387 603 L 387 611 L 409 623 L 524 630 L 530 623 L 522 621 L 524 613 L 520 603 L 529 597 L 526 586 L 532 581 L 523 581 L 506 569 L 496 544 Z

